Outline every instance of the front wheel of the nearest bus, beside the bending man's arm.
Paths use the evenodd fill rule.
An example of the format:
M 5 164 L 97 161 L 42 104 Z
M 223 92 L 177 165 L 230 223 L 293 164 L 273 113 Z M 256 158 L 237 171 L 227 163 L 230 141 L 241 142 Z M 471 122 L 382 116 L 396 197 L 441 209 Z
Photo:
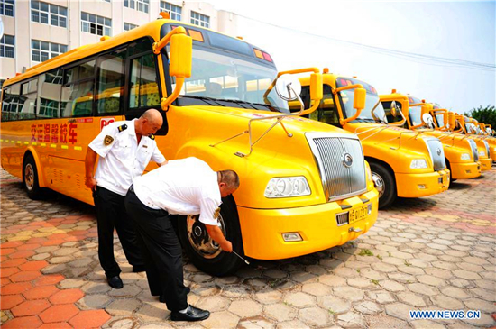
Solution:
M 243 264 L 234 253 L 225 252 L 210 238 L 198 215 L 179 216 L 179 237 L 189 260 L 199 269 L 214 276 L 233 274 Z M 233 196 L 223 199 L 219 224 L 225 238 L 233 243 L 233 250 L 243 255 L 243 241 Z

